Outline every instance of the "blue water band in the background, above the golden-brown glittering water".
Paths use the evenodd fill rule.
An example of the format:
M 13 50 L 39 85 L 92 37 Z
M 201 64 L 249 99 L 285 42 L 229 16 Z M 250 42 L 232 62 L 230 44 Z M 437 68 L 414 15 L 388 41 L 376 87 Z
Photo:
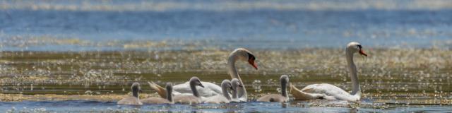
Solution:
M 112 1 L 110 5 L 121 3 L 118 2 Z M 130 2 L 137 5 L 141 1 Z M 72 2 L 65 4 L 81 6 Z M 130 49 L 125 44 L 140 42 L 165 42 L 168 49 L 180 49 L 191 44 L 198 44 L 197 47 L 201 48 L 299 49 L 343 47 L 350 41 L 361 42 L 367 47 L 451 48 L 451 11 L 448 8 L 320 11 L 273 8 L 225 11 L 198 8 L 165 11 L 6 8 L 0 10 L 0 38 L 4 51 L 121 50 Z M 40 42 L 42 38 L 62 42 L 77 39 L 84 43 Z

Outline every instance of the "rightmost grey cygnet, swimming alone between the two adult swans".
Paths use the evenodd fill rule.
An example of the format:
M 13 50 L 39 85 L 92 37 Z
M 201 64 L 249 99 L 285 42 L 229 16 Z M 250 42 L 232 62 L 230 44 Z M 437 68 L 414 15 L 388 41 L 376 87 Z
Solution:
M 289 96 L 287 95 L 287 83 L 289 83 L 289 77 L 283 75 L 280 77 L 281 83 L 281 94 L 268 94 L 259 97 L 256 101 L 258 102 L 287 102 Z

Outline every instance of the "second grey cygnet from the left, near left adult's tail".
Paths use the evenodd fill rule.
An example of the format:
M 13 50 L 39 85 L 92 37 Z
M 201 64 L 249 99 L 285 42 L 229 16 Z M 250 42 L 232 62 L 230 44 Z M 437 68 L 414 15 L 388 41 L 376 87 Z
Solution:
M 162 97 L 148 97 L 141 100 L 141 102 L 143 104 L 172 104 L 172 83 L 167 83 L 165 88 L 167 88 L 167 95 L 169 95 L 166 99 Z

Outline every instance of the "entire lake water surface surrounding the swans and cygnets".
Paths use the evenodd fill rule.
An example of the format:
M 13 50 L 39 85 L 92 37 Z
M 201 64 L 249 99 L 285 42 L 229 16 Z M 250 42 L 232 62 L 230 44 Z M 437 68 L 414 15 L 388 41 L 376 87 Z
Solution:
M 0 111 L 11 112 L 449 112 L 451 1 L 0 1 Z M 383 4 L 383 5 L 381 5 Z M 424 5 L 427 4 L 427 5 Z M 295 101 L 119 106 L 140 82 L 230 78 L 238 62 L 251 101 L 331 83 L 350 90 L 344 47 L 356 56 L 359 103 Z

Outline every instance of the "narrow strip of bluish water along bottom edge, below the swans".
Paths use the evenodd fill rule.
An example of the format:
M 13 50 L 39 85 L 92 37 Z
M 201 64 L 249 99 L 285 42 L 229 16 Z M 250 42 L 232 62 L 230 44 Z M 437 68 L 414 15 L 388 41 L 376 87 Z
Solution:
M 5 112 L 450 112 L 447 106 L 415 106 L 398 108 L 352 108 L 352 107 L 304 107 L 299 105 L 283 107 L 278 102 L 246 102 L 225 105 L 117 105 L 116 102 L 84 100 L 0 102 L 0 111 Z

